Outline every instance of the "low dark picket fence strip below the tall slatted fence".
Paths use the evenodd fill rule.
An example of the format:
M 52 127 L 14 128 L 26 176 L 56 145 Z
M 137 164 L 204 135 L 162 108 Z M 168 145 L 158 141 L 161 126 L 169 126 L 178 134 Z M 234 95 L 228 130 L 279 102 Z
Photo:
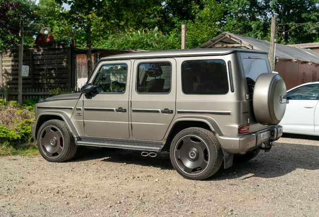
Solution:
M 62 93 L 75 92 L 75 89 L 62 88 Z M 22 100 L 37 98 L 47 98 L 50 95 L 52 89 L 49 88 L 23 88 Z M 18 88 L 0 88 L 0 99 L 6 99 L 7 101 L 18 101 Z

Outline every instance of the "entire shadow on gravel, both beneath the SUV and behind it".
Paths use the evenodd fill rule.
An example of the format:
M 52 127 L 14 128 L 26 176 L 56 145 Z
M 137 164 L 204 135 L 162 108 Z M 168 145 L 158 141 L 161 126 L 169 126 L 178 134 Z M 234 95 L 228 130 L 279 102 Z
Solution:
M 284 134 L 285 138 L 319 141 L 319 137 Z M 212 177 L 204 181 L 237 179 L 247 174 L 250 177 L 273 178 L 283 176 L 296 169 L 319 169 L 319 145 L 303 145 L 274 143 L 270 152 L 261 151 L 259 155 L 244 163 L 234 163 L 230 168 L 224 169 L 224 164 Z M 161 169 L 174 170 L 169 153 L 158 153 L 154 158 L 141 156 L 141 151 L 96 148 L 79 146 L 71 161 L 88 161 L 101 159 L 105 162 L 126 163 L 140 166 L 152 166 Z M 242 179 L 242 178 L 240 178 Z

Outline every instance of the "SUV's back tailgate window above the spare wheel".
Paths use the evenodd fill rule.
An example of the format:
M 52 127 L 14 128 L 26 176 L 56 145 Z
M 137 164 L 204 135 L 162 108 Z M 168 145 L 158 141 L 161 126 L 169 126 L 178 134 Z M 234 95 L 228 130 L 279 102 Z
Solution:
M 246 78 L 256 82 L 257 77 L 262 73 L 268 73 L 267 63 L 264 59 L 243 59 Z

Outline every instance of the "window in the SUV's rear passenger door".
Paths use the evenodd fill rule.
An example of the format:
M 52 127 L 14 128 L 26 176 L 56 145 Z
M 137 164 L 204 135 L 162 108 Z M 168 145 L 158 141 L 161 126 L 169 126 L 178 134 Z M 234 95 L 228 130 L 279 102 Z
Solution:
M 141 63 L 137 69 L 137 92 L 167 93 L 171 90 L 172 66 L 169 62 Z

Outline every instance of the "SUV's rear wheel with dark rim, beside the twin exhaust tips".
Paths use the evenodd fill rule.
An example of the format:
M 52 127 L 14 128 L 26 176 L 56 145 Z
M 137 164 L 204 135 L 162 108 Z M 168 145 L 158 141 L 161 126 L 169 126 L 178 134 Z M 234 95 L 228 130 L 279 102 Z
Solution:
M 188 128 L 174 137 L 170 157 L 173 167 L 184 178 L 202 180 L 219 170 L 223 152 L 211 131 Z

